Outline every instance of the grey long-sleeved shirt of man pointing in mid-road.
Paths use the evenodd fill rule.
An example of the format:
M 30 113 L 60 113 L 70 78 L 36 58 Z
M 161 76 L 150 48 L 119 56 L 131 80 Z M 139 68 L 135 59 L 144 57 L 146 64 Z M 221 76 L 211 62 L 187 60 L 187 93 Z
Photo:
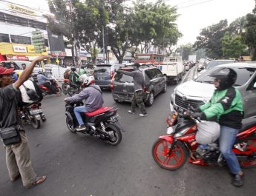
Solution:
M 119 70 L 119 72 L 122 72 L 125 75 L 130 75 L 131 77 L 134 78 L 134 92 L 143 90 L 143 88 L 145 87 L 145 81 L 144 81 L 142 71 L 135 70 L 132 72 L 128 72 L 124 70 Z

